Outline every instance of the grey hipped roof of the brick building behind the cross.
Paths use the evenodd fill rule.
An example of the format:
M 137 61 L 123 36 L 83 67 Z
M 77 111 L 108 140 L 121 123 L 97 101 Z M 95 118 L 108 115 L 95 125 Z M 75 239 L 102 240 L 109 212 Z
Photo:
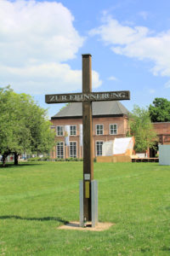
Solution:
M 123 116 L 129 112 L 121 102 L 92 102 L 93 117 Z M 82 118 L 82 102 L 70 103 L 62 108 L 51 119 Z

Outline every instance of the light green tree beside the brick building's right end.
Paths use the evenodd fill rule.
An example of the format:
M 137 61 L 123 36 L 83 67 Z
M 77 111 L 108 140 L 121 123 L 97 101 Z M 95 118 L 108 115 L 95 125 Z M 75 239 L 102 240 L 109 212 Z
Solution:
M 157 142 L 156 131 L 150 121 L 148 109 L 135 105 L 133 112 L 129 114 L 130 136 L 134 136 L 136 152 L 144 152 L 152 148 Z

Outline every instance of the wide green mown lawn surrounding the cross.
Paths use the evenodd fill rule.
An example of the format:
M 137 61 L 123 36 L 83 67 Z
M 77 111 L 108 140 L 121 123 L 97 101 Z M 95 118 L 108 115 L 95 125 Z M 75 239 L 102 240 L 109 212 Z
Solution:
M 102 232 L 58 230 L 79 218 L 82 162 L 0 168 L 0 255 L 170 255 L 170 166 L 94 163 Z

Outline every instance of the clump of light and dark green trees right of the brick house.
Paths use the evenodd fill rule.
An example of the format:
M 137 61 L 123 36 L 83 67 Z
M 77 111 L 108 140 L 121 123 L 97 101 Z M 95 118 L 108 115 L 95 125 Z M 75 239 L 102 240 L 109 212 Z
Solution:
M 170 122 L 170 102 L 165 98 L 156 98 L 149 108 L 139 108 L 135 105 L 128 120 L 127 136 L 134 136 L 134 150 L 144 152 L 147 148 L 156 148 L 158 137 L 153 123 Z

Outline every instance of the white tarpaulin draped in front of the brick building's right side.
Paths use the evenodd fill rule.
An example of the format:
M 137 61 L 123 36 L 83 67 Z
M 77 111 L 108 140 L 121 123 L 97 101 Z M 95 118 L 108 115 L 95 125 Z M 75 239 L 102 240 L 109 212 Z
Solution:
M 102 155 L 126 154 L 127 149 L 133 149 L 133 137 L 115 138 L 114 141 L 103 143 Z

